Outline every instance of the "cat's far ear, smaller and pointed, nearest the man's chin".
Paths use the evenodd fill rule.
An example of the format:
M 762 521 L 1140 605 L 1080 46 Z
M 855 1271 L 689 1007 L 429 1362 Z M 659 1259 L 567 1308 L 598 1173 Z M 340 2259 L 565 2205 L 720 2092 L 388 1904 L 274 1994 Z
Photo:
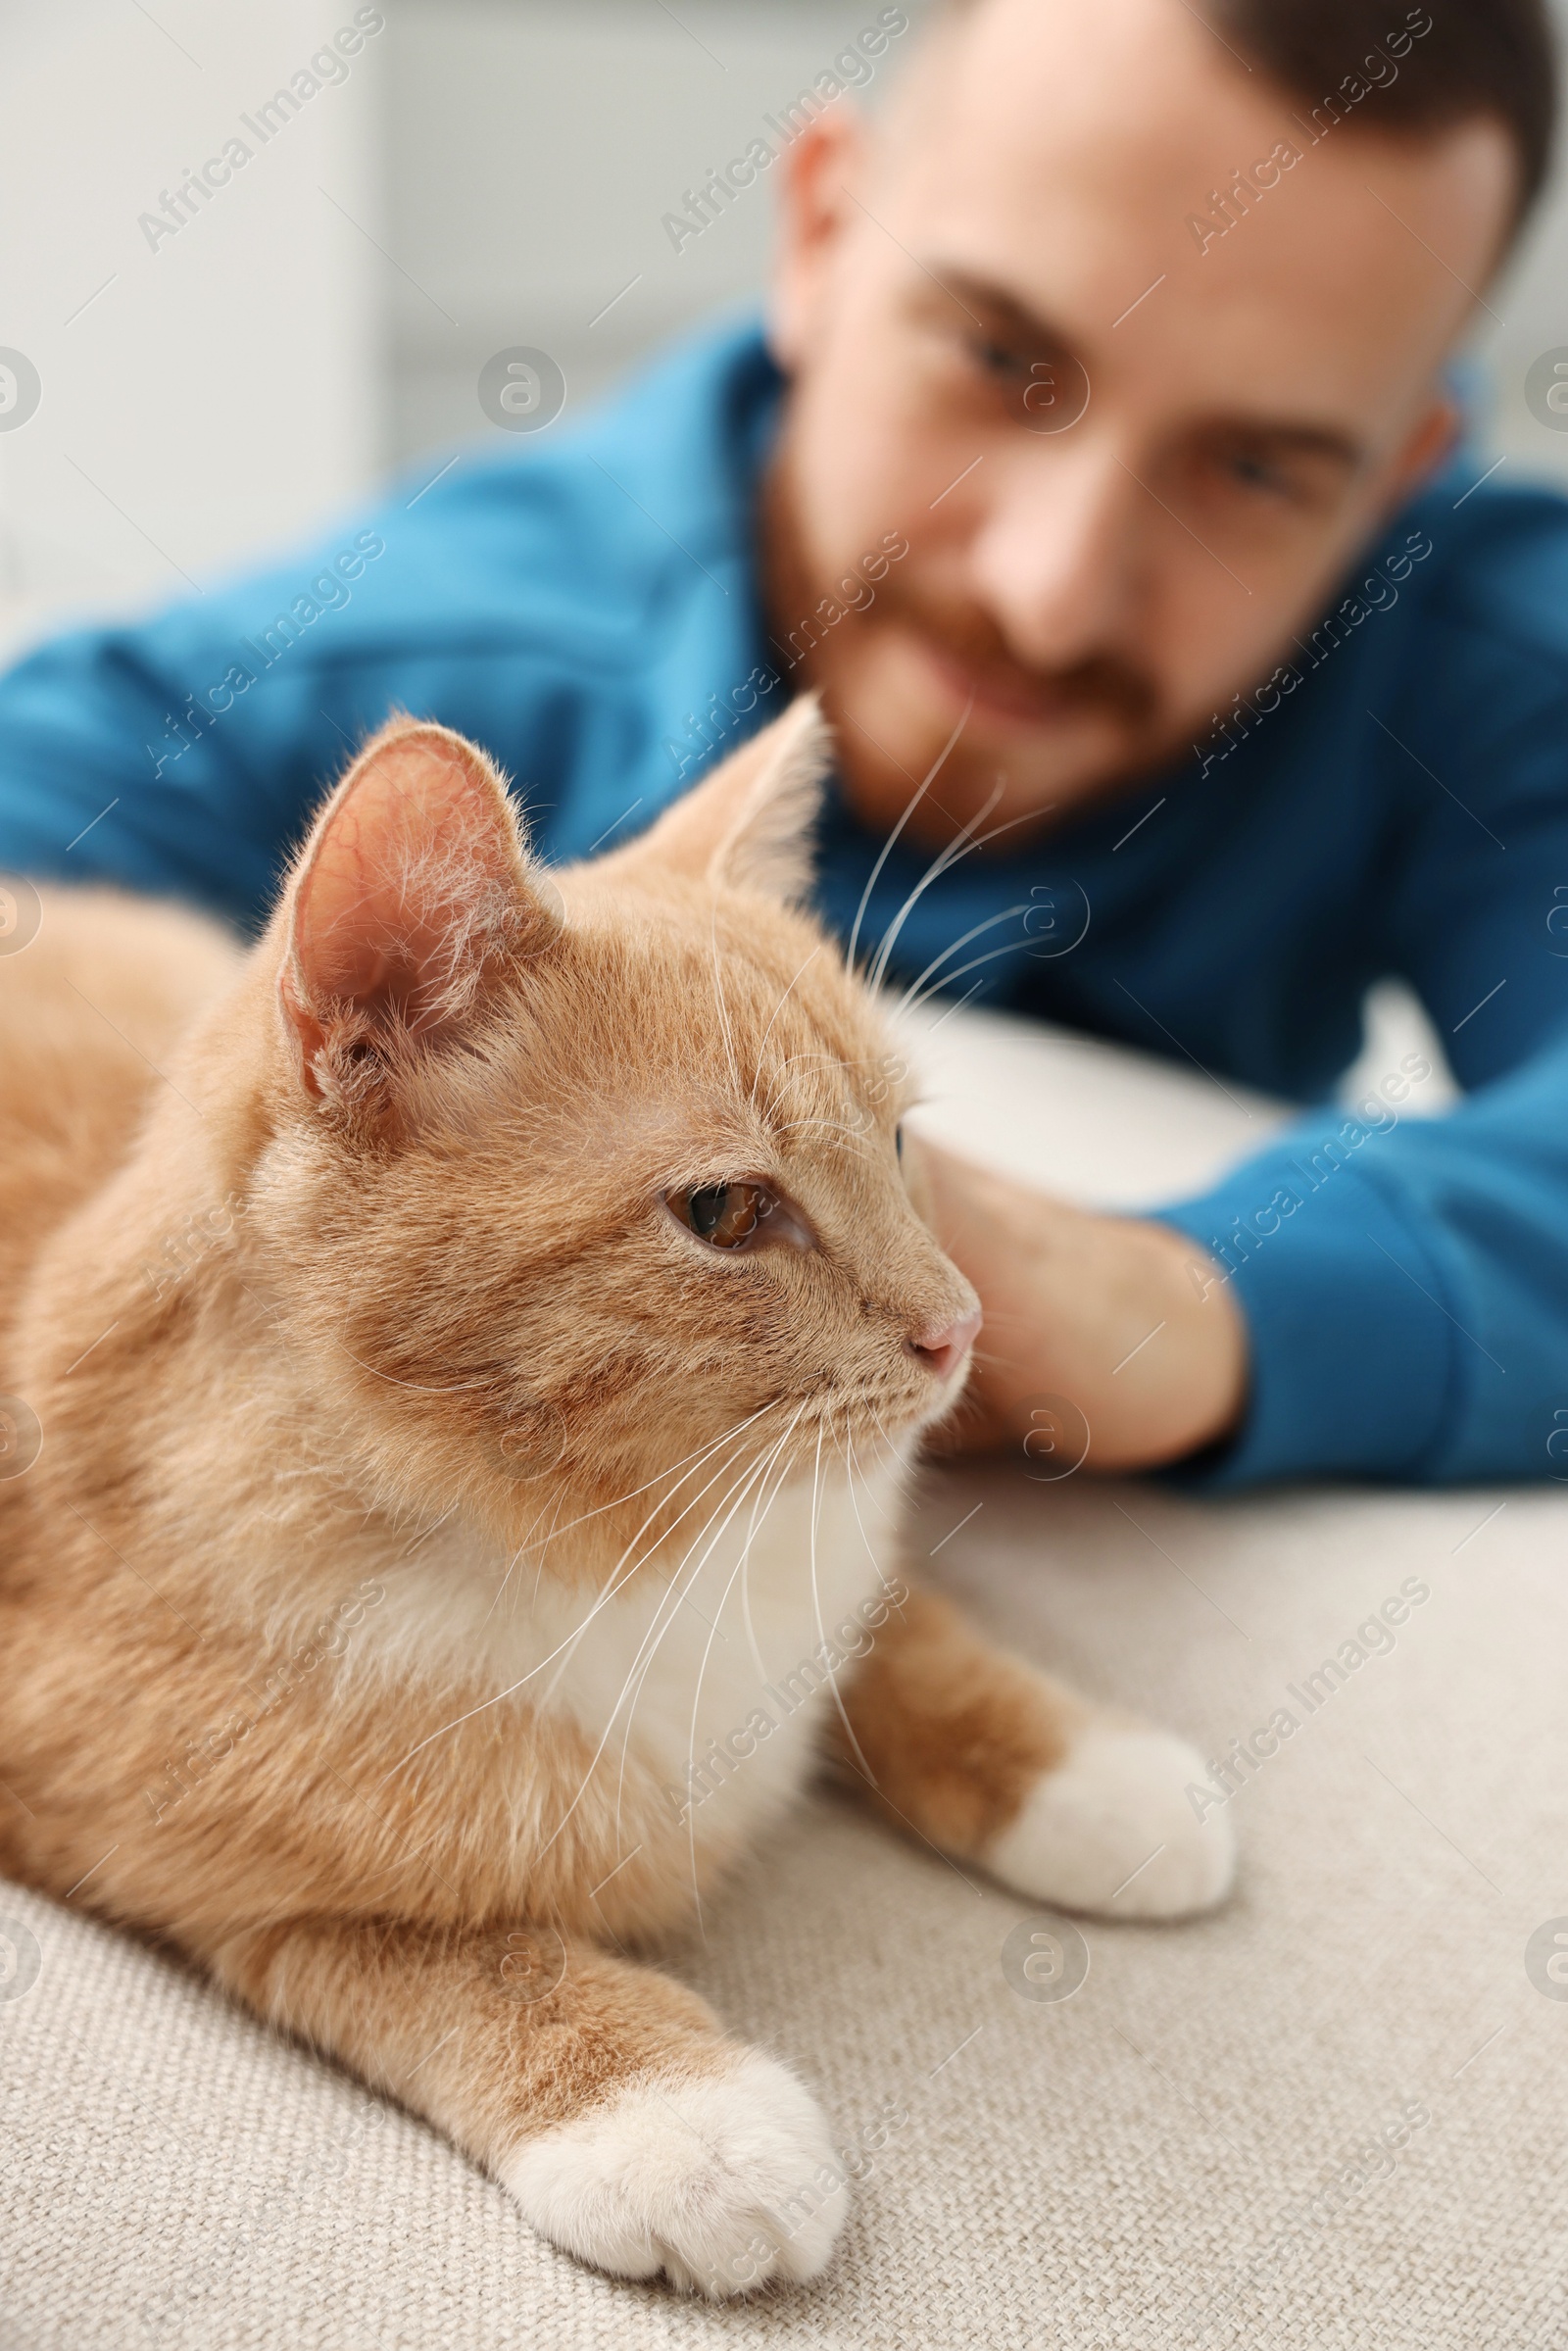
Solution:
M 693 792 L 616 856 L 616 865 L 663 865 L 719 889 L 752 889 L 797 905 L 811 893 L 813 830 L 832 734 L 816 694 L 731 752 Z M 609 863 L 609 860 L 607 860 Z

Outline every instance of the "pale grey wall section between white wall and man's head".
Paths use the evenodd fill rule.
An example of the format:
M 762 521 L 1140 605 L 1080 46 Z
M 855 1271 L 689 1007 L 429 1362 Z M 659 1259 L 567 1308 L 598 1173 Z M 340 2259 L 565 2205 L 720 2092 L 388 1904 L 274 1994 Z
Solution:
M 397 447 L 484 433 L 475 379 L 508 343 L 548 350 L 581 400 L 661 336 L 755 292 L 766 174 L 679 249 L 663 214 L 875 26 L 879 5 L 576 0 L 567 14 L 559 0 L 393 0 L 390 221 L 409 270 L 393 289 Z M 912 33 L 891 42 L 870 96 L 910 45 Z

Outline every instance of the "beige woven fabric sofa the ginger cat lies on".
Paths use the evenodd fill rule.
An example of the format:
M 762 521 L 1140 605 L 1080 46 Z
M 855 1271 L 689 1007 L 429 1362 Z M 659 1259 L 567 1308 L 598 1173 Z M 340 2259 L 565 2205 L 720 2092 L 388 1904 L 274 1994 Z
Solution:
M 929 1060 L 938 1131 L 1121 1204 L 1276 1117 L 1001 1020 Z M 931 1474 L 917 1549 L 1004 1639 L 1206 1756 L 1300 1728 L 1229 1799 L 1227 1909 L 1086 1923 L 1070 1998 L 1070 1928 L 835 1799 L 757 1860 L 675 1963 L 860 2179 L 827 2278 L 745 2306 L 590 2276 L 421 2123 L 0 1886 L 2 2351 L 1568 2344 L 1566 1535 L 1556 1486 Z M 1286 1697 L 1401 1589 L 1392 1646 Z

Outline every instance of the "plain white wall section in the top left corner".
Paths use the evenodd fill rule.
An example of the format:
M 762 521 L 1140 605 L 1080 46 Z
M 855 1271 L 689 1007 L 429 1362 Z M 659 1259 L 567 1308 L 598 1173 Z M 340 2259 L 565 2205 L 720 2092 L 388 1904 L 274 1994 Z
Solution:
M 12 637 L 61 607 L 205 588 L 376 473 L 386 263 L 343 212 L 383 235 L 388 35 L 268 146 L 240 125 L 353 7 L 0 9 L 0 346 L 42 381 L 31 423 L 0 430 Z M 235 134 L 252 160 L 150 247 L 139 214 Z

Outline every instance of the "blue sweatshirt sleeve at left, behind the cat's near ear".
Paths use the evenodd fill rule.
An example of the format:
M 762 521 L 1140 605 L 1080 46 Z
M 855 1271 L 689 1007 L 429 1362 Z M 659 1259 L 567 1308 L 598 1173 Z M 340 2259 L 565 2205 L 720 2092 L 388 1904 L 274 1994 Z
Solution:
M 421 463 L 259 574 L 42 644 L 0 675 L 0 870 L 254 922 L 393 710 L 484 743 L 550 856 L 646 818 L 675 712 L 762 651 L 778 393 L 755 320 L 726 322 L 562 437 Z

